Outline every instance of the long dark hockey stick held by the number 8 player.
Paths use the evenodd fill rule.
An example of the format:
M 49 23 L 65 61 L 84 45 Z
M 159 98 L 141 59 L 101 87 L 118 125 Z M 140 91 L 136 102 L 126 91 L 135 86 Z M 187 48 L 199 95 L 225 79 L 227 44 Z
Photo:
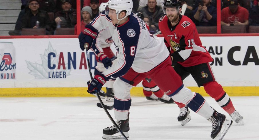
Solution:
M 93 80 L 93 75 L 92 75 L 92 71 L 91 71 L 91 68 L 90 68 L 90 59 L 89 59 L 89 53 L 88 53 L 88 44 L 85 44 L 85 49 L 86 49 L 86 56 L 87 56 L 87 63 L 88 63 L 88 69 L 89 69 L 89 74 L 90 74 L 90 77 L 91 77 L 91 80 Z M 103 101 L 100 97 L 100 95 L 96 92 L 96 95 L 98 97 L 98 100 L 99 102 L 101 103 L 101 106 L 103 107 L 105 113 L 108 115 L 109 119 L 111 120 L 111 122 L 113 123 L 113 125 L 116 127 L 116 129 L 119 131 L 119 133 L 121 133 L 121 135 L 123 135 L 123 137 L 127 139 L 127 137 L 125 136 L 125 134 L 119 129 L 118 125 L 115 123 L 115 121 L 113 120 L 113 118 L 111 117 L 110 113 L 108 112 L 108 110 L 104 107 L 104 104 L 103 104 Z

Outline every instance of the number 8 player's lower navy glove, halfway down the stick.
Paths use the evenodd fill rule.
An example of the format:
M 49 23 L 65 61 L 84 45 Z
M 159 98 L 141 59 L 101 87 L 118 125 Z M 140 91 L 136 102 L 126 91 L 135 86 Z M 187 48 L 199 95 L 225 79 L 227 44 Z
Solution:
M 103 74 L 97 73 L 91 82 L 87 82 L 87 92 L 93 94 L 95 93 L 95 90 L 100 91 L 106 81 L 109 80 Z

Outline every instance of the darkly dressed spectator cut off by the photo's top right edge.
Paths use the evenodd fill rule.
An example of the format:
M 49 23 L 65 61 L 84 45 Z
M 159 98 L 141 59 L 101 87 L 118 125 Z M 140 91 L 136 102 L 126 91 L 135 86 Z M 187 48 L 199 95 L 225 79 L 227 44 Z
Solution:
M 249 25 L 259 26 L 259 1 L 249 11 Z

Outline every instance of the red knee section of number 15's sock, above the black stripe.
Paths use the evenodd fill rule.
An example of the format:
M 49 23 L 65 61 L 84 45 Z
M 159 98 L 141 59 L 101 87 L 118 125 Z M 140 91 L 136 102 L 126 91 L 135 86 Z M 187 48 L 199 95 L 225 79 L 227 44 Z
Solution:
M 215 100 L 220 99 L 225 93 L 222 86 L 216 81 L 203 84 L 203 87 L 204 90 Z

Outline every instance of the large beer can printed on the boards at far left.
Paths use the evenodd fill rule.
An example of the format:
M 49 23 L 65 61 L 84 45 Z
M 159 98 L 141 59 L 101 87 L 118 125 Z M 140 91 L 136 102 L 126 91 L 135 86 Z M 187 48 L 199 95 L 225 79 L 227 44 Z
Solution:
M 16 79 L 15 57 L 13 43 L 0 41 L 0 81 Z

